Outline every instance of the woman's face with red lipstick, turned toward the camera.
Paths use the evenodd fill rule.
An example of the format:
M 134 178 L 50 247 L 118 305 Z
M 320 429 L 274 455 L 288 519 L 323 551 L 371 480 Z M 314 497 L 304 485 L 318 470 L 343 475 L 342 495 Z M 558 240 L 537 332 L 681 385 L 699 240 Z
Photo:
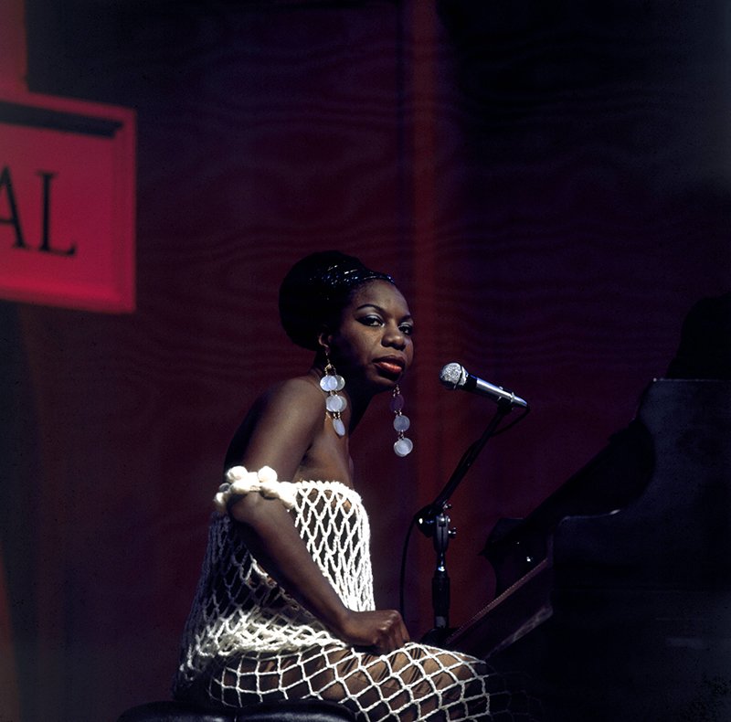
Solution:
M 344 307 L 340 325 L 327 340 L 346 382 L 362 378 L 375 391 L 393 388 L 414 357 L 414 322 L 408 304 L 388 281 L 358 287 Z

